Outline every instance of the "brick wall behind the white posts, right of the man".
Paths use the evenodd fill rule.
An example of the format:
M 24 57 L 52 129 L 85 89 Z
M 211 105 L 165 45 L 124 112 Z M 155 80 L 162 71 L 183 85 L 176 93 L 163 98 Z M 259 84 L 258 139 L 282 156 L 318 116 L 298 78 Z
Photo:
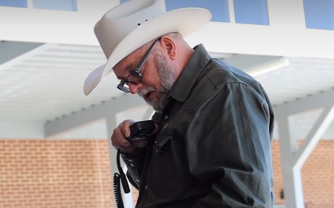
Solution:
M 299 145 L 302 142 L 299 143 Z M 279 141 L 272 144 L 275 203 L 284 203 L 280 198 L 283 189 Z M 302 167 L 304 201 L 307 208 L 334 207 L 334 140 L 320 141 Z

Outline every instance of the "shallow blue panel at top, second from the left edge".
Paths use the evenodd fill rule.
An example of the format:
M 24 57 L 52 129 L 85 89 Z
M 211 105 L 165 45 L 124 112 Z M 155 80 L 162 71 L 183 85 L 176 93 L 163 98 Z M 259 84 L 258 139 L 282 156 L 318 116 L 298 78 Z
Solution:
M 77 0 L 32 0 L 33 8 L 77 12 Z

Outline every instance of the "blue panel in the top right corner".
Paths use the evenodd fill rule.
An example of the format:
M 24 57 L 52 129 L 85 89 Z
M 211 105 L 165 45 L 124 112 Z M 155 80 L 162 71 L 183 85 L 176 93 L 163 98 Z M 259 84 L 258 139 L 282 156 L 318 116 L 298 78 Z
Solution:
M 333 0 L 303 0 L 307 28 L 334 30 Z

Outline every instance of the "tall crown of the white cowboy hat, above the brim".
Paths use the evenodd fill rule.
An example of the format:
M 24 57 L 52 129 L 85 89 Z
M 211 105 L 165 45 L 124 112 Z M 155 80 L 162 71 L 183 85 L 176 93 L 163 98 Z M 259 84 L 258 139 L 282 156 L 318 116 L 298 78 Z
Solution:
M 105 57 L 108 58 L 132 30 L 163 13 L 166 13 L 163 0 L 130 0 L 105 13 L 94 27 Z

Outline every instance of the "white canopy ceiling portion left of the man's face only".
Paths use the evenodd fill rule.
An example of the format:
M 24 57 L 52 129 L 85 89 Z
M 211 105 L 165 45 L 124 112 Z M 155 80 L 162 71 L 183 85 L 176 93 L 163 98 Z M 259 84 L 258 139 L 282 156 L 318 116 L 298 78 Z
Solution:
M 40 48 L 40 49 L 39 49 Z M 45 44 L 0 65 L 0 121 L 47 121 L 120 96 L 110 76 L 90 96 L 86 76 L 105 62 L 97 46 Z

